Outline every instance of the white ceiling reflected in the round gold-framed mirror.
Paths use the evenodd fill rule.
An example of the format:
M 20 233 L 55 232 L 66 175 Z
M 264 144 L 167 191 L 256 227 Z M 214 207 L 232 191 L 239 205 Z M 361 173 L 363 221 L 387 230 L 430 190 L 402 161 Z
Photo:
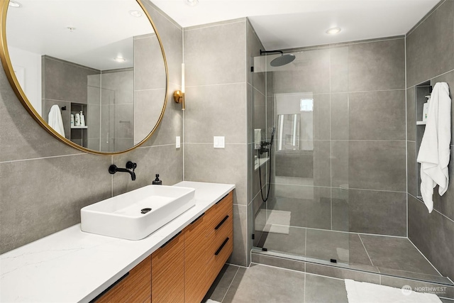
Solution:
M 143 12 L 132 0 L 17 1 L 22 7 L 9 8 L 6 16 L 9 46 L 97 70 L 132 67 L 133 37 L 153 33 L 145 13 L 138 18 L 129 13 Z M 126 61 L 116 62 L 117 56 Z

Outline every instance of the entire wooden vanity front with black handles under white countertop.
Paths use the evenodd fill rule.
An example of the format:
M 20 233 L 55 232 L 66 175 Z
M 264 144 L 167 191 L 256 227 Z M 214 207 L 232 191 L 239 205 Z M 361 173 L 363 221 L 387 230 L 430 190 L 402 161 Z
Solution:
M 230 192 L 96 302 L 199 303 L 232 251 Z

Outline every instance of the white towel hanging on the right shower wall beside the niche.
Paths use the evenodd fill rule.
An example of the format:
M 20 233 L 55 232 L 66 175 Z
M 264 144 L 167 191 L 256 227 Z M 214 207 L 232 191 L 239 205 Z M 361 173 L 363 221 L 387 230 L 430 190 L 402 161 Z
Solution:
M 439 82 L 433 87 L 428 104 L 426 129 L 418 153 L 421 163 L 421 195 L 428 212 L 433 210 L 433 188 L 438 184 L 438 193 L 448 189 L 451 141 L 451 99 L 449 87 Z

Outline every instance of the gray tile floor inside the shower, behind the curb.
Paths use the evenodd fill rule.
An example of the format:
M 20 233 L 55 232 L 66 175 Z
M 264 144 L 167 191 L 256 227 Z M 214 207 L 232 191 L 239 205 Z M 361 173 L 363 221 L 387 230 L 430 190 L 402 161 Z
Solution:
M 441 275 L 408 238 L 375 236 L 289 227 L 289 234 L 264 233 L 260 243 L 269 251 L 367 265 L 374 272 L 436 281 Z M 433 278 L 431 278 L 433 276 Z

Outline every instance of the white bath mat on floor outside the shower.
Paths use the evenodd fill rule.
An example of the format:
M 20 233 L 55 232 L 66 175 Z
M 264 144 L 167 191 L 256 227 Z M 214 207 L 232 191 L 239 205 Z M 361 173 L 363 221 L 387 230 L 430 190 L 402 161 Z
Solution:
M 345 279 L 348 303 L 442 303 L 436 294 Z

